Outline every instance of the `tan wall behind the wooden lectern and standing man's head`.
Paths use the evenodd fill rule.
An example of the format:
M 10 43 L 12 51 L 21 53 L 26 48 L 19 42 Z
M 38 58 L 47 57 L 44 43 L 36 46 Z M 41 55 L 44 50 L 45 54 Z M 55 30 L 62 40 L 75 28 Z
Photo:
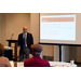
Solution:
M 1 13 L 1 15 L 3 45 L 8 45 L 6 40 L 11 39 L 12 33 L 14 33 L 13 39 L 17 40 L 18 35 L 23 32 L 24 26 L 30 28 L 30 13 Z

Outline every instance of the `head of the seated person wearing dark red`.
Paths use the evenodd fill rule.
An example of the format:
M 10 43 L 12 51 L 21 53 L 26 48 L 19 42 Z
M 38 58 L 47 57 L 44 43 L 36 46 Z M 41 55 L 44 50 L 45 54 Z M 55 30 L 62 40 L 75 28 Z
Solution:
M 40 55 L 42 52 L 42 46 L 40 44 L 32 44 L 30 48 L 32 55 Z

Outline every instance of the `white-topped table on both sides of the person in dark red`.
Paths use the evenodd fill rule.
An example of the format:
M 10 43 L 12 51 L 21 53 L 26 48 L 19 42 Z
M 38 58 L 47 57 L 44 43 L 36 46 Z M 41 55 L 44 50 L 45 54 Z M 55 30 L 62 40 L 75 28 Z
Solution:
M 24 62 L 10 62 L 12 67 L 24 67 Z M 64 62 L 49 62 L 51 67 L 77 67 L 76 64 L 71 65 L 70 63 Z

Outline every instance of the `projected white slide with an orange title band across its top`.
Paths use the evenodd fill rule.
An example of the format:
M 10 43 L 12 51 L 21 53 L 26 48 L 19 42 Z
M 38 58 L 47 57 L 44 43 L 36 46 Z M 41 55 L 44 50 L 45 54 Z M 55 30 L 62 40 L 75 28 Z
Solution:
M 76 41 L 76 15 L 41 16 L 40 39 Z

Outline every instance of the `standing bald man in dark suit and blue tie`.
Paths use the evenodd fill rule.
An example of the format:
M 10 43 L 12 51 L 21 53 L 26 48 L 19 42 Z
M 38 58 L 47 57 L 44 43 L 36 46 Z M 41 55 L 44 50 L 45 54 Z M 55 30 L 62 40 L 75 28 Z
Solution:
M 28 28 L 23 27 L 23 33 L 18 35 L 18 49 L 19 49 L 19 62 L 24 59 L 24 53 L 26 58 L 29 58 L 29 53 L 31 53 L 30 45 L 33 44 L 32 35 L 27 32 Z

